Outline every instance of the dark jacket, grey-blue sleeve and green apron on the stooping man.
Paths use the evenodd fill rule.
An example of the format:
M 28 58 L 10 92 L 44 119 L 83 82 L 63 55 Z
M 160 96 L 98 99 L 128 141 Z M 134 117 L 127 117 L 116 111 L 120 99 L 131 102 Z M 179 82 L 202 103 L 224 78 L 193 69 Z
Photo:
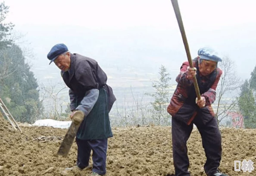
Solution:
M 80 106 L 79 110 L 85 114 L 76 137 L 81 140 L 112 137 L 109 111 L 116 97 L 112 88 L 106 85 L 106 73 L 91 58 L 71 54 L 70 59 L 70 69 L 61 72 L 64 82 L 70 88 L 70 109 L 78 110 Z

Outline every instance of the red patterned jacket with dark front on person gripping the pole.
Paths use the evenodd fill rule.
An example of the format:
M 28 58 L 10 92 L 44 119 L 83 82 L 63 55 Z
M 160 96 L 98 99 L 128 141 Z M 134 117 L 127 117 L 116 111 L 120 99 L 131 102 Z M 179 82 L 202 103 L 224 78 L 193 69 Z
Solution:
M 193 80 L 187 79 L 187 67 L 189 67 L 189 63 L 184 62 L 181 66 L 181 71 L 176 78 L 178 85 L 167 111 L 173 118 L 177 118 L 187 124 L 190 124 L 196 115 L 200 115 L 203 122 L 207 123 L 207 121 L 214 117 L 211 104 L 215 101 L 216 88 L 220 76 L 222 75 L 222 70 L 216 68 L 210 75 L 203 76 L 199 72 L 197 58 L 193 60 L 193 65 L 197 68 L 198 87 L 201 96 L 206 99 L 206 106 L 201 109 L 197 106 L 195 102 L 197 96 Z

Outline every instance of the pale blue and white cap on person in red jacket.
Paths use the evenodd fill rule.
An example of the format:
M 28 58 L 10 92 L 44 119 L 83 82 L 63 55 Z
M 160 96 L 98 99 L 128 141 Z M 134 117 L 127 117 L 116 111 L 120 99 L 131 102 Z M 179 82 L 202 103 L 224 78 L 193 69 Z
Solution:
M 204 47 L 199 49 L 197 54 L 201 59 L 215 61 L 215 62 L 222 61 L 222 59 L 218 56 L 218 53 L 209 47 Z

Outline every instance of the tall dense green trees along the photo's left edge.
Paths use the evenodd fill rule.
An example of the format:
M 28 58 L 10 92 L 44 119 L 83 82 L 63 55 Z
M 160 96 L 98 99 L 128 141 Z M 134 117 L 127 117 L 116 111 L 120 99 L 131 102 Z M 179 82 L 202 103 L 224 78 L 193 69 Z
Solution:
M 22 49 L 10 37 L 14 25 L 4 23 L 8 9 L 0 4 L 0 98 L 17 121 L 33 122 L 41 115 L 42 102 L 34 73 Z

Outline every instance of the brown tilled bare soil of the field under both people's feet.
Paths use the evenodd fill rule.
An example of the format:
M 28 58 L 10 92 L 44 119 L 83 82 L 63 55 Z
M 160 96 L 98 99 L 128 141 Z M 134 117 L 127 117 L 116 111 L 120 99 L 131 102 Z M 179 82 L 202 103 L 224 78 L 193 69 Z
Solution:
M 0 117 L 0 176 L 88 176 L 83 171 L 64 171 L 76 162 L 74 143 L 67 158 L 57 150 L 67 129 L 20 126 L 15 131 Z M 113 128 L 109 139 L 106 176 L 168 176 L 174 173 L 171 127 Z M 220 170 L 229 176 L 256 176 L 256 169 L 234 171 L 235 160 L 256 162 L 256 130 L 222 129 L 223 155 Z M 206 176 L 206 160 L 200 134 L 193 130 L 188 141 L 191 176 Z M 255 166 L 256 167 L 256 164 Z

